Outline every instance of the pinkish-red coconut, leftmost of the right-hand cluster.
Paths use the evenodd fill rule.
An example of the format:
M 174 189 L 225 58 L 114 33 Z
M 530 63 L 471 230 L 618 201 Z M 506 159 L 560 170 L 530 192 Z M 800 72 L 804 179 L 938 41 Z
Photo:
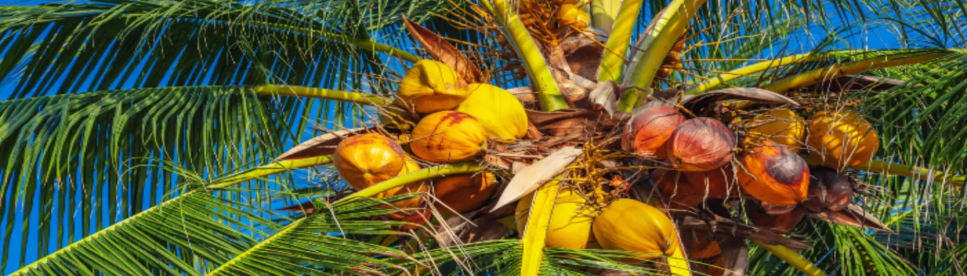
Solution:
M 621 136 L 622 148 L 639 154 L 667 157 L 665 143 L 679 124 L 685 122 L 678 110 L 654 106 L 634 114 Z

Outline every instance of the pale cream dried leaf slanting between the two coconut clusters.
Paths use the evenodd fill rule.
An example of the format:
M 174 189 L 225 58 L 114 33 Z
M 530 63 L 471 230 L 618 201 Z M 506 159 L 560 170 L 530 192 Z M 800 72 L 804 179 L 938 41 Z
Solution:
M 501 193 L 500 199 L 493 207 L 490 207 L 489 211 L 507 206 L 534 192 L 544 182 L 560 175 L 564 168 L 568 167 L 581 153 L 581 149 L 578 148 L 562 148 L 521 169 L 513 176 L 511 182 L 507 184 L 507 188 Z

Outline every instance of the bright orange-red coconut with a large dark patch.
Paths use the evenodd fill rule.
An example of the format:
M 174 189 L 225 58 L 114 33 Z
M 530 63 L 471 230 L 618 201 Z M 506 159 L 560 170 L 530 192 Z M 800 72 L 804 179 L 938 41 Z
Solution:
M 739 159 L 742 189 L 752 197 L 777 206 L 806 200 L 809 167 L 806 160 L 772 140 L 763 140 Z

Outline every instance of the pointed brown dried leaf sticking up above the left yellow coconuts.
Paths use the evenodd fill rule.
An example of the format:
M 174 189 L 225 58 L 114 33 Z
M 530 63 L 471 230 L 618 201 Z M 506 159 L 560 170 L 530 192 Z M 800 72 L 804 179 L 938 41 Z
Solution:
M 410 31 L 410 35 L 414 39 L 420 42 L 420 45 L 424 47 L 426 52 L 430 56 L 433 56 L 437 61 L 446 64 L 447 66 L 456 70 L 465 80 L 470 83 L 479 83 L 484 81 L 484 74 L 481 73 L 480 69 L 474 65 L 470 59 L 460 53 L 460 50 L 456 49 L 454 45 L 450 44 L 436 33 L 420 26 L 413 21 L 410 21 L 405 16 L 403 17 L 403 24 L 406 25 L 406 29 Z

